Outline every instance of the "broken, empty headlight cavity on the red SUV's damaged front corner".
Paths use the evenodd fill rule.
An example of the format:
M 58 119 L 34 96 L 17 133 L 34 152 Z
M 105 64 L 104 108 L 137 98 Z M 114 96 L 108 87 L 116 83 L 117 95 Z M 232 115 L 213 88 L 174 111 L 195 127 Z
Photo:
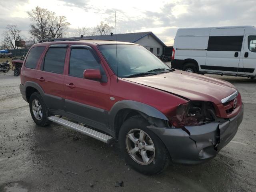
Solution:
M 215 110 L 211 102 L 189 101 L 176 108 L 170 123 L 176 128 L 200 126 L 214 121 Z

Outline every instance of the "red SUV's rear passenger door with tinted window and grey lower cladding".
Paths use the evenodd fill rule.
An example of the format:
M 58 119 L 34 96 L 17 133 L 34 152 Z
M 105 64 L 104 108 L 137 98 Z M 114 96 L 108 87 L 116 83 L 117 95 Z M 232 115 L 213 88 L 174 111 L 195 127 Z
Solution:
M 52 44 L 36 72 L 37 83 L 44 90 L 44 101 L 48 108 L 64 110 L 64 63 L 67 44 Z

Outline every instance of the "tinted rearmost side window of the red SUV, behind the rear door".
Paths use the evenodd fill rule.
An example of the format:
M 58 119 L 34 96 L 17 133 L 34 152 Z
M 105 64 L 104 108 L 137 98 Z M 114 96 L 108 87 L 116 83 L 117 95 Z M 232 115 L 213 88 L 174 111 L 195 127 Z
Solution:
M 35 69 L 36 64 L 42 55 L 45 47 L 33 47 L 26 58 L 25 66 L 30 69 Z

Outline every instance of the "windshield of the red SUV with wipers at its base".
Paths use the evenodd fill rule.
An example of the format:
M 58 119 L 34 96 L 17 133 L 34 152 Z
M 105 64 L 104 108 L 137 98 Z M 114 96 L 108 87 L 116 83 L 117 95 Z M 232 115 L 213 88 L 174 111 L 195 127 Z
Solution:
M 139 45 L 111 44 L 101 45 L 98 48 L 114 73 L 117 74 L 118 71 L 119 77 L 154 75 L 171 71 L 154 54 Z

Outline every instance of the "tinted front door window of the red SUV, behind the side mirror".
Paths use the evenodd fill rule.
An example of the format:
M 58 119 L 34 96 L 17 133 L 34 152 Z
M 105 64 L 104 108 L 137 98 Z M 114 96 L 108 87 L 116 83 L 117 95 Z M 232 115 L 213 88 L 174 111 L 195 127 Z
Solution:
M 71 49 L 69 74 L 76 77 L 84 77 L 84 70 L 100 69 L 92 53 L 87 49 Z

